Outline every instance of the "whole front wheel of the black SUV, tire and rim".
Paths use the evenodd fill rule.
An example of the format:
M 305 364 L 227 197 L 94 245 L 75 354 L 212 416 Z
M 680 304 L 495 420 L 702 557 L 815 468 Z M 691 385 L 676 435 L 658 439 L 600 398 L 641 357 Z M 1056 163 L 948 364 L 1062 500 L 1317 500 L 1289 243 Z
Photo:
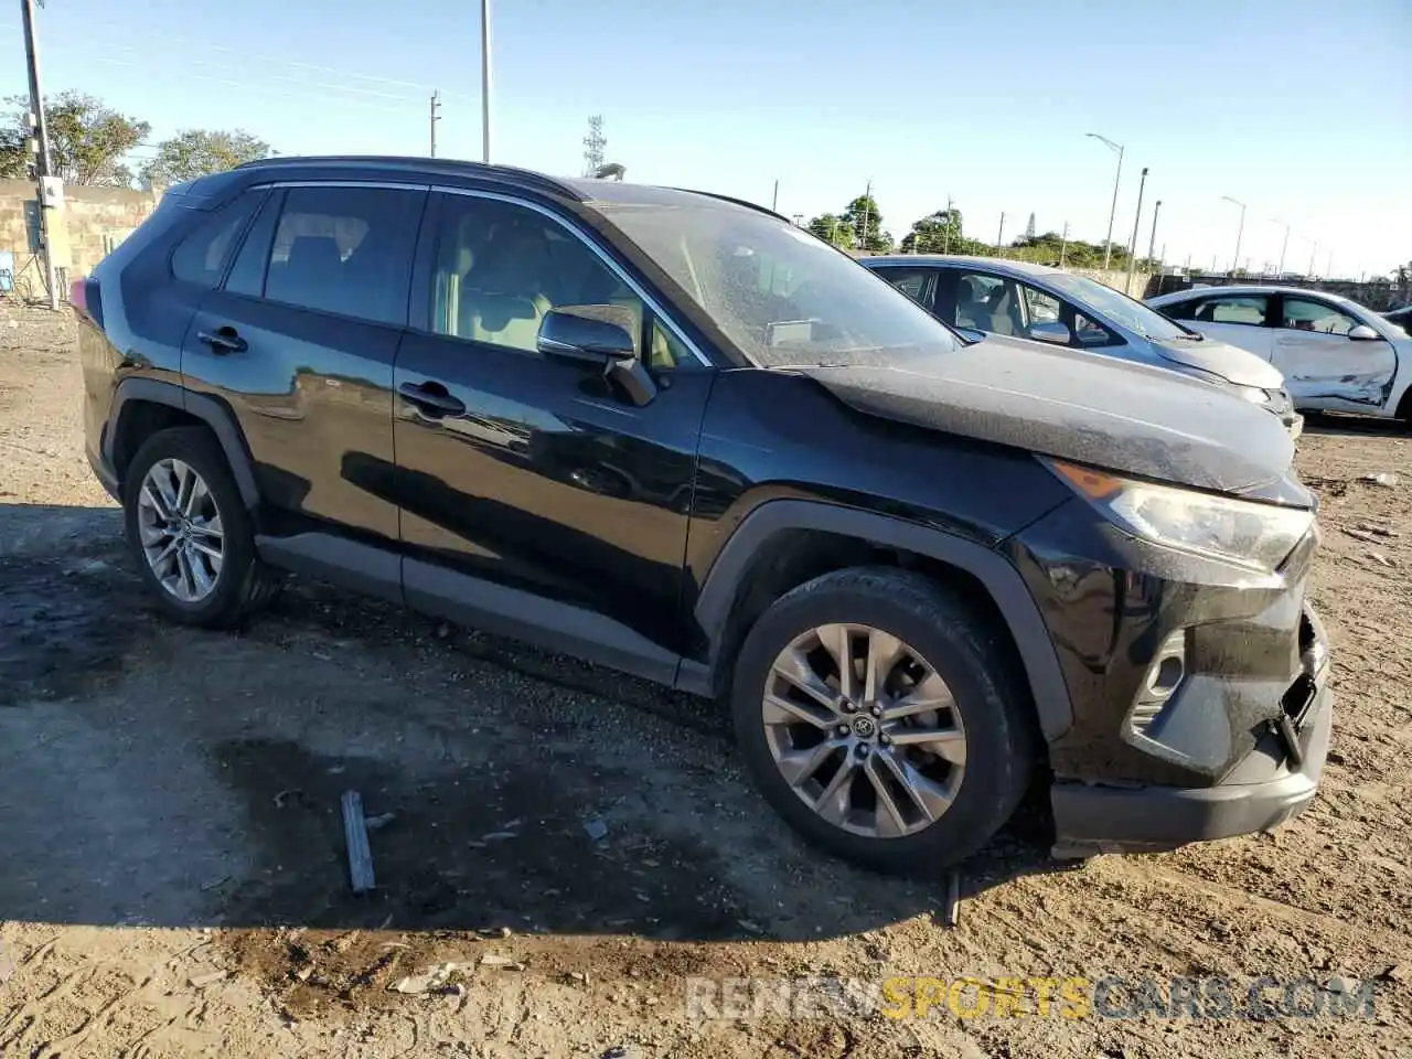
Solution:
M 933 874 L 980 849 L 1031 778 L 1034 724 L 986 616 L 918 575 L 829 573 L 777 600 L 736 664 L 761 792 L 864 867 Z

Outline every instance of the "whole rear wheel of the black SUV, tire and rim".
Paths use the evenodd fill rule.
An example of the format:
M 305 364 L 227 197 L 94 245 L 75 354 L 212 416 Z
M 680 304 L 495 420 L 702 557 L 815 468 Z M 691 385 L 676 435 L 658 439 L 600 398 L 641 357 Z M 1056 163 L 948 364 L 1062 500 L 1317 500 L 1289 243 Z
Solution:
M 160 431 L 124 474 L 127 539 L 143 580 L 178 621 L 240 623 L 278 580 L 256 556 L 250 513 L 225 453 L 208 431 Z

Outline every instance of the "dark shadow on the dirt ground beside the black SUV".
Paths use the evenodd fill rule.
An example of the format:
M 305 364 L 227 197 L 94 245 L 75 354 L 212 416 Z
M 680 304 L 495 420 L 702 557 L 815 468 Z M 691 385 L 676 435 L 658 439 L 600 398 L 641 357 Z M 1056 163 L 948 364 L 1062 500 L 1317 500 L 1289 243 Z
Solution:
M 0 919 L 714 942 L 945 912 L 942 880 L 801 843 L 710 703 L 305 582 L 184 628 L 119 530 L 0 505 Z M 962 895 L 1069 867 L 1048 827 L 1024 806 Z

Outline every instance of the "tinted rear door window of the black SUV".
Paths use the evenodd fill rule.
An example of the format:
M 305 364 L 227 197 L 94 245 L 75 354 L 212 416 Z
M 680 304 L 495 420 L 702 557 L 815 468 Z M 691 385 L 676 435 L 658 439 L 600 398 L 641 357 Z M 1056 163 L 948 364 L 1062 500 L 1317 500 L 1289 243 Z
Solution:
M 270 246 L 264 297 L 378 323 L 405 322 L 424 199 L 394 188 L 291 188 Z

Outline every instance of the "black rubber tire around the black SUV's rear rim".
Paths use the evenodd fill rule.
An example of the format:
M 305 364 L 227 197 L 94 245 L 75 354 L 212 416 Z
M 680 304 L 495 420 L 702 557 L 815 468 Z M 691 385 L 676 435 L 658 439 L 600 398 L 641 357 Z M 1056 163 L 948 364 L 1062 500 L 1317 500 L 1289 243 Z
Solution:
M 222 565 L 215 589 L 198 602 L 181 600 L 162 587 L 143 552 L 138 535 L 138 497 L 143 480 L 154 463 L 179 459 L 189 465 L 210 491 L 223 531 Z M 256 555 L 254 525 L 236 486 L 226 455 L 216 438 L 202 426 L 175 426 L 143 442 L 123 476 L 123 514 L 127 542 L 162 613 L 175 621 L 202 628 L 230 628 L 241 624 L 278 592 L 281 579 Z

